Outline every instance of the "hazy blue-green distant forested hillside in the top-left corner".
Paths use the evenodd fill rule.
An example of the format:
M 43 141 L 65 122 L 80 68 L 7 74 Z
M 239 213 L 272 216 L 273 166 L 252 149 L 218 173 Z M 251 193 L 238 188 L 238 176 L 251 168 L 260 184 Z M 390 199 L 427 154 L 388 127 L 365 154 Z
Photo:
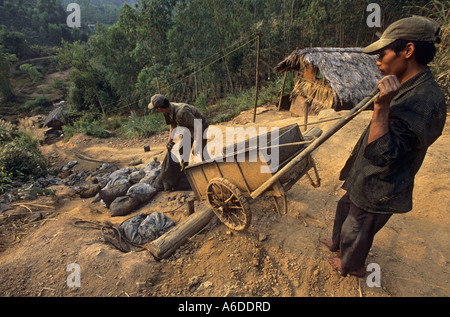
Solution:
M 81 28 L 67 26 L 67 4 L 76 2 L 82 8 Z M 33 57 L 32 45 L 60 45 L 61 40 L 88 39 L 88 25 L 112 25 L 117 21 L 125 1 L 106 0 L 1 0 L 0 44 L 19 58 Z

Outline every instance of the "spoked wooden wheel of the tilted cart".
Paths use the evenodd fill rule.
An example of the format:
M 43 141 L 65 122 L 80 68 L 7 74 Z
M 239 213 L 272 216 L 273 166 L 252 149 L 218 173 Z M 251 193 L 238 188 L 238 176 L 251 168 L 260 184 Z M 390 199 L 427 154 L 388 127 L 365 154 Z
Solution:
M 244 230 L 251 222 L 247 199 L 225 178 L 213 178 L 207 187 L 208 202 L 216 216 L 233 230 Z

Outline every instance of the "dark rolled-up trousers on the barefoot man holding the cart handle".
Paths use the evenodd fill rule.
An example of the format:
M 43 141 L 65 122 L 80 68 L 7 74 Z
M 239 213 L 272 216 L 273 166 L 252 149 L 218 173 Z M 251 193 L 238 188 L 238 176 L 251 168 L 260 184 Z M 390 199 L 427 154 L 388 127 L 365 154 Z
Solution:
M 355 206 L 348 193 L 342 196 L 336 208 L 331 251 L 340 251 L 343 276 L 364 267 L 375 234 L 391 215 L 367 212 Z

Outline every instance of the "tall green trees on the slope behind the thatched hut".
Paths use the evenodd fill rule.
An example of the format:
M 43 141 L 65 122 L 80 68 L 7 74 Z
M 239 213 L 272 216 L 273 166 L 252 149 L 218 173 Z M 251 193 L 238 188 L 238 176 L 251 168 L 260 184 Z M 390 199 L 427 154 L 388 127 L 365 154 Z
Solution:
M 145 109 L 156 92 L 172 100 L 216 101 L 255 85 L 256 36 L 260 82 L 278 79 L 274 66 L 299 47 L 363 46 L 377 31 L 427 1 L 382 1 L 382 28 L 366 24 L 367 5 L 351 0 L 141 0 L 125 4 L 111 27 L 87 43 L 64 43 L 61 65 L 72 65 L 70 103 L 103 113 Z M 437 1 L 436 1 L 437 2 Z M 444 4 L 445 6 L 445 4 Z M 448 5 L 447 5 L 448 6 Z

